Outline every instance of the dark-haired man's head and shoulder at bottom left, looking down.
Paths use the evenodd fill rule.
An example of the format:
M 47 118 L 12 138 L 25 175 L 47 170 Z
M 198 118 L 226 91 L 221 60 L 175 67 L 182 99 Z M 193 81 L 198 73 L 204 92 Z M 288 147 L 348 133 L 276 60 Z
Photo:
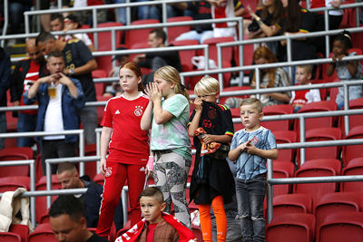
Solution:
M 49 209 L 49 223 L 58 241 L 106 242 L 87 230 L 82 202 L 72 195 L 61 195 Z

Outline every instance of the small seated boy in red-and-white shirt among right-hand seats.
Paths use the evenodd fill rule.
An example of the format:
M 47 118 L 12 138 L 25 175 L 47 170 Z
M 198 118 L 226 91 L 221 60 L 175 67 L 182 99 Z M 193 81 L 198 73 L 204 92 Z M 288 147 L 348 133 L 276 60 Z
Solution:
M 299 85 L 310 85 L 311 82 L 311 73 L 312 67 L 311 65 L 299 65 L 296 68 L 296 82 Z M 311 89 L 311 90 L 299 90 L 291 92 L 291 99 L 289 103 L 294 107 L 294 111 L 297 112 L 300 110 L 302 106 L 310 102 L 320 102 L 320 92 L 319 89 Z

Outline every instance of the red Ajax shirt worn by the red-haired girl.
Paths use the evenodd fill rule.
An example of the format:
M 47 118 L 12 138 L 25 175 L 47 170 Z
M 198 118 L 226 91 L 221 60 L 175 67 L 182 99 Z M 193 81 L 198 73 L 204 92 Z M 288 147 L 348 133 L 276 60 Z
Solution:
M 130 101 L 122 96 L 110 99 L 103 111 L 101 125 L 113 128 L 107 161 L 145 165 L 149 157 L 148 133 L 140 122 L 149 98 L 142 92 Z

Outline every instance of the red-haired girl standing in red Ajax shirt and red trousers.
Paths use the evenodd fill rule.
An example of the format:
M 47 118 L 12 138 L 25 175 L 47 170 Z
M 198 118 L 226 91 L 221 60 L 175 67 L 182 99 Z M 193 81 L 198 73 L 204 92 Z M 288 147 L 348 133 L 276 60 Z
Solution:
M 142 93 L 142 72 L 135 63 L 125 63 L 119 71 L 123 94 L 110 99 L 103 112 L 101 164 L 104 174 L 103 200 L 96 233 L 108 237 L 114 210 L 127 179 L 131 207 L 131 224 L 141 219 L 138 196 L 145 182 L 145 165 L 149 157 L 148 131 L 140 121 L 149 98 Z M 111 141 L 110 141 L 111 140 Z M 107 149 L 109 155 L 106 160 Z

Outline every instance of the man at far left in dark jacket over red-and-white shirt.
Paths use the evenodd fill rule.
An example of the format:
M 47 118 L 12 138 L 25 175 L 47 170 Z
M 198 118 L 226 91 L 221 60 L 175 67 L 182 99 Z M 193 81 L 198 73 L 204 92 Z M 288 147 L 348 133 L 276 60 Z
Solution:
M 23 93 L 48 73 L 44 55 L 36 47 L 34 38 L 26 41 L 25 50 L 29 58 L 16 63 L 11 76 L 11 102 L 14 102 L 14 106 L 25 105 Z M 18 111 L 17 131 L 35 131 L 37 113 L 36 110 Z M 31 147 L 32 145 L 33 139 L 30 137 L 17 138 L 18 147 Z

